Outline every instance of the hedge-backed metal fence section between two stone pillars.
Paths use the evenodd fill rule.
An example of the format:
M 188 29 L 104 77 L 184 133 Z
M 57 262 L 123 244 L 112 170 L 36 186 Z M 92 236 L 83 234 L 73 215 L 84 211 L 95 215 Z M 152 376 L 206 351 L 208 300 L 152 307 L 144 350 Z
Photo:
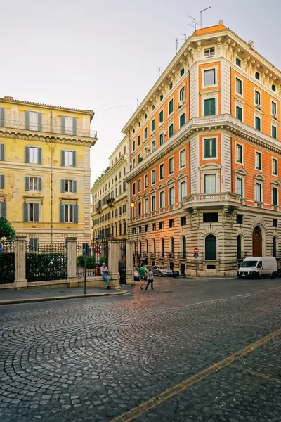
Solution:
M 67 279 L 67 248 L 63 243 L 37 245 L 26 243 L 27 281 L 47 281 Z

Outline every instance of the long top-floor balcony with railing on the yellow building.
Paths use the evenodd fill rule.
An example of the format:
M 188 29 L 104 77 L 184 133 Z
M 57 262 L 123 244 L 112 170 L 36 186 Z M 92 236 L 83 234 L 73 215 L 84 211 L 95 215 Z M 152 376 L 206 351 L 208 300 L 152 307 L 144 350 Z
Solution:
M 81 129 L 79 127 L 73 127 L 72 129 L 67 129 L 63 126 L 55 126 L 54 124 L 44 124 L 44 123 L 31 123 L 20 120 L 9 120 L 1 119 L 0 128 L 7 129 L 24 129 L 28 132 L 47 132 L 51 134 L 63 134 L 67 136 L 81 136 L 86 138 L 96 138 L 98 136 L 96 130 L 90 129 Z

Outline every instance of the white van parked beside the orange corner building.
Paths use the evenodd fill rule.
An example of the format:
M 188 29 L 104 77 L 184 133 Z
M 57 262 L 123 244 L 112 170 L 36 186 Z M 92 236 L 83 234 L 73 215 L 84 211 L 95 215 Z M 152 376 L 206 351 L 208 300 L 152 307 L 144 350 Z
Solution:
M 260 277 L 270 276 L 274 279 L 277 271 L 277 262 L 275 257 L 247 257 L 244 259 L 237 271 L 239 279 L 259 279 Z

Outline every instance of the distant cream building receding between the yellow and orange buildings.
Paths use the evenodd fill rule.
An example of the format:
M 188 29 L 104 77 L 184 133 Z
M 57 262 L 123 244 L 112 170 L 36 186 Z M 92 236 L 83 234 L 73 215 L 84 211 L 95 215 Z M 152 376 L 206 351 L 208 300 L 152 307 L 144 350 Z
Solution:
M 93 238 L 126 238 L 127 187 L 124 177 L 127 167 L 127 143 L 125 137 L 110 155 L 109 167 L 91 188 Z

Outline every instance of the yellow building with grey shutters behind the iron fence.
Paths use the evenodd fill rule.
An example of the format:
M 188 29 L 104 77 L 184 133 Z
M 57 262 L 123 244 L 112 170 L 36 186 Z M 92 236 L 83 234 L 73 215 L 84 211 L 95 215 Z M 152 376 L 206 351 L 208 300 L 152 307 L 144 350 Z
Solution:
M 0 98 L 0 217 L 33 247 L 91 238 L 93 115 Z

